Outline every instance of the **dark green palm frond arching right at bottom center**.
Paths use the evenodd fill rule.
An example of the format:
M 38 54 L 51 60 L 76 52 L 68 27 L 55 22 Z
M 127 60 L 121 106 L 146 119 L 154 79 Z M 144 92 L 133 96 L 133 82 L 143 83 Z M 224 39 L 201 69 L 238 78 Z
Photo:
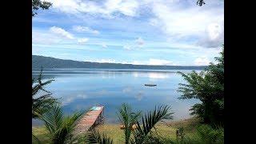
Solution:
M 142 124 L 137 121 L 138 128 L 133 131 L 134 139 L 131 139 L 131 143 L 142 144 L 148 143 L 146 141 L 151 130 L 154 128 L 158 122 L 162 122 L 163 120 L 172 119 L 173 116 L 170 112 L 170 106 L 158 106 L 154 108 L 154 110 L 150 110 L 148 114 L 145 114 L 142 117 Z

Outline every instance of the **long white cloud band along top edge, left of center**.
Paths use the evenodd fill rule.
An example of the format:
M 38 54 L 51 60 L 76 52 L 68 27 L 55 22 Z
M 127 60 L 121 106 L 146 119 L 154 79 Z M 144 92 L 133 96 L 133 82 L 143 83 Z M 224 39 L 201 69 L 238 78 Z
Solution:
M 93 2 L 81 0 L 50 0 L 54 9 L 67 14 L 98 14 L 99 16 L 112 17 L 118 12 L 126 16 L 135 16 L 139 2 L 135 0 L 106 0 Z

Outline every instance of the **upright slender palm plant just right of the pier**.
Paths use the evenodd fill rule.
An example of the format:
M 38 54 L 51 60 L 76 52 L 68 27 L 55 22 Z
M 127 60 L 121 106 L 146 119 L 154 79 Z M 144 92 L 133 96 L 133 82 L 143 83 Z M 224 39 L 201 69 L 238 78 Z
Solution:
M 118 118 L 120 122 L 122 122 L 122 125 L 125 126 L 124 133 L 126 137 L 126 144 L 130 141 L 132 126 L 136 124 L 140 116 L 141 112 L 134 113 L 132 108 L 126 103 L 123 103 L 121 108 L 118 110 Z

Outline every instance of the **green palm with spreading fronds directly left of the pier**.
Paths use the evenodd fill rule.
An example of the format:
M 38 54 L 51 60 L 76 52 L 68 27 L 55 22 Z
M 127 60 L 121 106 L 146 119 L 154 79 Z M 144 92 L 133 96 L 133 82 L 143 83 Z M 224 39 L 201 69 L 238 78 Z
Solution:
M 54 144 L 71 143 L 76 140 L 74 128 L 82 113 L 74 113 L 71 116 L 64 116 L 60 106 L 54 106 L 50 111 L 42 114 L 42 121 L 45 122 L 46 130 Z

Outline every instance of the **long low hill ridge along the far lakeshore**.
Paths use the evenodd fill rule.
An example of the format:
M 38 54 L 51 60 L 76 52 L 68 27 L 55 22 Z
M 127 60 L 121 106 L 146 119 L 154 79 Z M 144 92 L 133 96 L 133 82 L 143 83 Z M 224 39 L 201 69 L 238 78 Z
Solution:
M 121 63 L 79 62 L 32 55 L 32 68 L 85 68 L 85 69 L 156 69 L 156 70 L 202 70 L 206 66 L 150 66 Z

